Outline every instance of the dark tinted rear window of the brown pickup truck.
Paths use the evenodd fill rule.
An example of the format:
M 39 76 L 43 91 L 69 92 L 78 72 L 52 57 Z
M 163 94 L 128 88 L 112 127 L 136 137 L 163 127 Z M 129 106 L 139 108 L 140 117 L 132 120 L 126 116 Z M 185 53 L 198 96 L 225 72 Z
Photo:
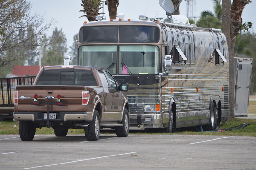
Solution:
M 87 70 L 45 70 L 36 85 L 97 86 L 97 82 L 93 73 Z

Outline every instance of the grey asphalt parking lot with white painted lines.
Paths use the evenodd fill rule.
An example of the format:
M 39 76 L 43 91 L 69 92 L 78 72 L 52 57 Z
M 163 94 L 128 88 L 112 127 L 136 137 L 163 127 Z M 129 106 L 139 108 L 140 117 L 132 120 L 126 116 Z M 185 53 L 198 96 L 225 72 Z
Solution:
M 0 169 L 256 169 L 256 138 L 201 135 L 0 135 Z

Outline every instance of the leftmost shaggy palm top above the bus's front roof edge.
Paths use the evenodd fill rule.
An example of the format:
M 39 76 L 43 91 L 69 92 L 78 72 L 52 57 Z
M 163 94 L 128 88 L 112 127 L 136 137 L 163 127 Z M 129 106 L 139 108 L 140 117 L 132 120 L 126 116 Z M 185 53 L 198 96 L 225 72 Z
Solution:
M 102 5 L 101 0 L 82 0 L 81 6 L 83 10 L 79 12 L 84 12 L 86 15 L 82 15 L 81 17 L 86 17 L 89 21 L 95 21 L 95 16 L 104 14 L 99 13 L 99 10 L 102 8 L 100 5 Z

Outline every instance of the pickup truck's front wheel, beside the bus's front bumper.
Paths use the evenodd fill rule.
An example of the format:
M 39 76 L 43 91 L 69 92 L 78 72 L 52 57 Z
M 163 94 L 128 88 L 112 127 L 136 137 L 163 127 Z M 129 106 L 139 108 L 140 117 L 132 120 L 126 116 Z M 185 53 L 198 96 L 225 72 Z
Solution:
M 116 127 L 115 133 L 118 137 L 127 137 L 130 129 L 130 117 L 126 108 L 124 108 L 123 119 L 120 123 L 122 123 L 123 126 Z

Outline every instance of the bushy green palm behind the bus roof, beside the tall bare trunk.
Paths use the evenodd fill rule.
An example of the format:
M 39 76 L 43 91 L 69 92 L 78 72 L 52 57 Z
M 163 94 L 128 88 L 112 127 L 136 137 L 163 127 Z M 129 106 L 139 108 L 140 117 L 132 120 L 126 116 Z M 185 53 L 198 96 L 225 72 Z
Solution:
M 214 13 L 211 11 L 203 11 L 201 12 L 201 17 L 197 22 L 197 26 L 204 28 L 218 28 L 222 29 L 221 22 L 221 0 L 212 0 L 214 4 Z

